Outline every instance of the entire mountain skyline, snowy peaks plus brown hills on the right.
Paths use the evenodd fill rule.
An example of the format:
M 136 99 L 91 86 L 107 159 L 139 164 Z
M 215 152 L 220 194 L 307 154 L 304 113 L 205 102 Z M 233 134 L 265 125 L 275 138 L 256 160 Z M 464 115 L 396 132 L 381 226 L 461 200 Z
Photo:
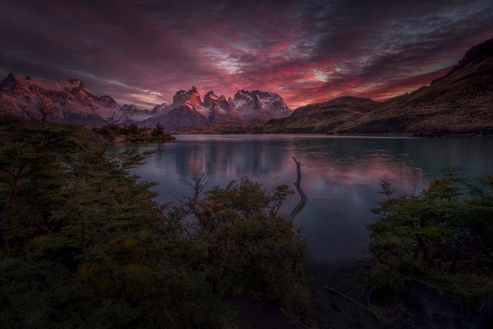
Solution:
M 77 77 L 50 82 L 10 73 L 0 84 L 0 109 L 14 115 L 51 106 L 54 122 L 91 125 L 159 121 L 177 133 L 408 133 L 493 134 L 493 38 L 469 49 L 457 65 L 429 86 L 384 102 L 343 96 L 292 111 L 267 91 L 238 90 L 233 98 L 211 90 L 178 90 L 172 104 L 141 110 L 97 96 Z

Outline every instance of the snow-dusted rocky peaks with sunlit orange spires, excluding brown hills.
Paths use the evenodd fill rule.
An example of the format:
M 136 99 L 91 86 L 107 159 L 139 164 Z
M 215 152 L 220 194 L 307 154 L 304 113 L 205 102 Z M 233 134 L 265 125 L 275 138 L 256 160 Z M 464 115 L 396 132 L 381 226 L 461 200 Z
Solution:
M 128 124 L 155 126 L 159 121 L 167 130 L 183 129 L 221 122 L 240 126 L 248 121 L 266 122 L 268 119 L 289 115 L 292 111 L 282 97 L 265 91 L 238 91 L 232 100 L 217 96 L 211 90 L 202 102 L 197 87 L 188 91 L 178 90 L 173 103 L 156 105 L 152 110 L 141 110 L 135 105 L 119 106 L 110 96 L 98 97 L 87 90 L 82 81 L 71 77 L 67 81 L 51 82 L 8 76 L 0 84 L 0 109 L 14 115 L 22 115 L 22 107 L 30 109 L 38 105 L 51 106 L 56 111 L 49 120 L 83 124 Z M 241 100 L 239 100 L 241 98 Z M 246 119 L 237 109 L 248 117 Z M 224 121 L 224 122 L 223 122 Z

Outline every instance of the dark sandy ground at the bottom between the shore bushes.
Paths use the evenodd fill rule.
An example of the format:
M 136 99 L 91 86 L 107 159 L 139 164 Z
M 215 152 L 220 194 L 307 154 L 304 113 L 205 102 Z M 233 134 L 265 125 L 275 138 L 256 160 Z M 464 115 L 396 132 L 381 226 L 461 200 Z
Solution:
M 344 293 L 353 301 L 367 306 L 366 295 L 354 282 L 363 261 L 338 261 L 329 263 L 309 263 L 306 273 L 312 290 L 312 313 L 302 323 L 287 319 L 279 308 L 265 300 L 254 300 L 246 295 L 231 297 L 236 305 L 240 328 L 418 328 L 418 329 L 480 329 L 493 328 L 486 325 L 484 316 L 475 316 L 428 288 L 407 282 L 408 292 L 404 296 L 404 306 L 412 319 L 392 324 L 379 321 L 367 310 L 345 300 L 337 293 L 323 287 L 333 288 Z

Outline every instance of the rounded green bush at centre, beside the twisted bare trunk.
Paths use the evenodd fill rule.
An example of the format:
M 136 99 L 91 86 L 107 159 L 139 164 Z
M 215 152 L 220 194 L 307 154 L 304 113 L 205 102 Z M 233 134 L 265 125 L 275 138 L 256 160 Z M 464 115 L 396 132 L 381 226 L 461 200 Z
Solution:
M 303 273 L 306 246 L 280 214 L 291 194 L 287 185 L 267 191 L 243 177 L 189 204 L 198 218 L 196 239 L 209 250 L 212 282 L 225 292 L 262 292 L 285 313 L 300 316 L 310 299 Z

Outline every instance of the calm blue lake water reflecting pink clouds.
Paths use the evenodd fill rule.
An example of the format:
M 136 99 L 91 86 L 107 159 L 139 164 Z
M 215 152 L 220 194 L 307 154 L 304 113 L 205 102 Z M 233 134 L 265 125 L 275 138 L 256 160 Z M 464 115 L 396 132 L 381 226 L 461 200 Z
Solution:
M 466 168 L 473 179 L 493 175 L 493 139 L 490 138 L 382 138 L 325 135 L 177 135 L 176 142 L 139 144 L 156 150 L 135 169 L 143 180 L 158 181 L 159 200 L 172 201 L 172 189 L 187 191 L 180 177 L 209 171 L 210 186 L 225 186 L 248 176 L 266 188 L 288 184 L 294 188 L 301 162 L 302 187 L 308 203 L 296 223 L 307 238 L 314 260 L 364 258 L 369 252 L 365 225 L 376 202 L 380 179 L 386 175 L 396 193 L 419 191 L 440 168 Z M 118 151 L 133 144 L 111 145 Z M 296 194 L 286 206 L 299 201 Z

